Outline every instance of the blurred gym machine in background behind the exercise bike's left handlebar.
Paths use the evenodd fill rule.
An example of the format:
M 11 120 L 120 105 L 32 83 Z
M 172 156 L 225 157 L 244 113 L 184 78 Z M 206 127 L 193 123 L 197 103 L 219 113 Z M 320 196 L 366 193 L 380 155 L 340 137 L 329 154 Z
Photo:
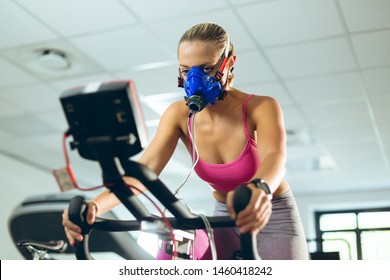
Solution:
M 15 207 L 8 227 L 25 259 L 55 259 L 64 254 L 75 258 L 62 226 L 62 212 L 74 196 L 70 193 L 31 196 Z M 113 211 L 103 217 L 118 219 Z M 127 232 L 96 231 L 89 240 L 89 250 L 92 254 L 110 252 L 123 259 L 152 259 Z

